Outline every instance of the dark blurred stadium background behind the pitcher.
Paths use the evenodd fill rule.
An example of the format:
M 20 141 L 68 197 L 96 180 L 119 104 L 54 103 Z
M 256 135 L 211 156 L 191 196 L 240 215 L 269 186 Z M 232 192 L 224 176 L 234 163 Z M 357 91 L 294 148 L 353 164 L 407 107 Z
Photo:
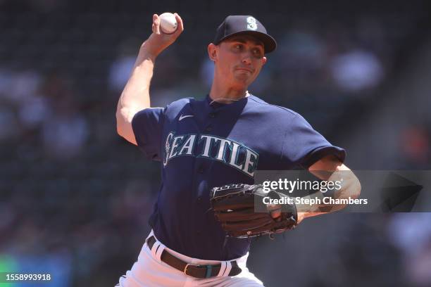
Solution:
M 304 115 L 349 167 L 430 170 L 430 1 L 0 0 L 0 272 L 113 286 L 137 259 L 159 170 L 115 108 L 164 11 L 185 32 L 157 59 L 155 105 L 204 97 L 215 27 L 251 14 L 279 44 L 252 94 Z M 249 268 L 266 286 L 431 286 L 431 214 L 308 219 L 257 240 Z

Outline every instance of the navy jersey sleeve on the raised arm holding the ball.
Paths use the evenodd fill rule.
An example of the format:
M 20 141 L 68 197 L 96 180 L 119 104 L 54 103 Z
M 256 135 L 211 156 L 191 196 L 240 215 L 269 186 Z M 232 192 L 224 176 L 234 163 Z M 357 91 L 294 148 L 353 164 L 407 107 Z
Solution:
M 161 160 L 161 135 L 165 108 L 146 108 L 135 114 L 132 129 L 137 145 L 149 160 Z

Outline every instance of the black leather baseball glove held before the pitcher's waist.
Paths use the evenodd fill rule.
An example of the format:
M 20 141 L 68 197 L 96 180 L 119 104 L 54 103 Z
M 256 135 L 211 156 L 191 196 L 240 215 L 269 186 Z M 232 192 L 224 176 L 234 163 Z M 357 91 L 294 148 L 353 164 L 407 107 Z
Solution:
M 227 236 L 248 238 L 281 233 L 296 227 L 298 220 L 294 204 L 276 205 L 275 210 L 263 203 L 263 198 L 288 198 L 277 191 L 263 191 L 263 186 L 230 184 L 211 189 L 210 200 L 215 218 Z M 277 218 L 271 212 L 281 211 Z

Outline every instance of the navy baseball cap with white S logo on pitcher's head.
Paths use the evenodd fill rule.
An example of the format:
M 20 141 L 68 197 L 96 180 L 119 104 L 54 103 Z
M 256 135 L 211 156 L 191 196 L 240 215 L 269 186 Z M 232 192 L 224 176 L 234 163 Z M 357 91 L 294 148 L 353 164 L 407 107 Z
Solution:
M 277 42 L 267 32 L 265 27 L 251 15 L 229 15 L 218 26 L 213 44 L 218 45 L 223 40 L 238 34 L 249 34 L 263 42 L 265 53 L 277 48 Z

